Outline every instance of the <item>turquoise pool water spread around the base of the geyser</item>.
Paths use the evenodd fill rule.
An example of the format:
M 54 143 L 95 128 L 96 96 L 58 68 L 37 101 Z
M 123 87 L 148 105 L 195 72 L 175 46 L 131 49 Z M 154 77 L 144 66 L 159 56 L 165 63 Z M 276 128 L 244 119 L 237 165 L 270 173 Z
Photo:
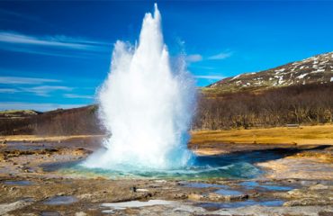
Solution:
M 247 154 L 234 153 L 223 156 L 195 157 L 189 166 L 175 169 L 147 169 L 131 166 L 119 166 L 117 169 L 86 168 L 81 161 L 71 163 L 53 163 L 44 167 L 46 171 L 58 171 L 71 175 L 102 175 L 110 178 L 173 178 L 173 179 L 207 179 L 231 178 L 248 179 L 263 174 L 255 164 L 281 157 L 274 150 L 250 151 Z

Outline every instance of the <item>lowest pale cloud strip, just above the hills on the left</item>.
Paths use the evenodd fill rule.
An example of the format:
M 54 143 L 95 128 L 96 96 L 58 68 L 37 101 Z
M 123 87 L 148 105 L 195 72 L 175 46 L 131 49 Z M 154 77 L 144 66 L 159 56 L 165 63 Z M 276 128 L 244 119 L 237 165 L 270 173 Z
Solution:
M 44 112 L 58 108 L 69 109 L 85 105 L 87 104 L 0 102 L 0 110 L 36 110 Z

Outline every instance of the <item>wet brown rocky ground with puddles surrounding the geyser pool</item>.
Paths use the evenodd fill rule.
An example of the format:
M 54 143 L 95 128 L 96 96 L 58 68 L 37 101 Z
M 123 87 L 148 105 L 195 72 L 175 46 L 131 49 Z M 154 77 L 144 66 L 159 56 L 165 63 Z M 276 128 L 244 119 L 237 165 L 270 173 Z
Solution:
M 331 146 L 192 146 L 202 154 L 275 149 L 253 179 L 109 178 L 60 172 L 99 141 L 6 142 L 0 148 L 0 215 L 333 215 Z M 56 165 L 56 166 L 54 166 Z

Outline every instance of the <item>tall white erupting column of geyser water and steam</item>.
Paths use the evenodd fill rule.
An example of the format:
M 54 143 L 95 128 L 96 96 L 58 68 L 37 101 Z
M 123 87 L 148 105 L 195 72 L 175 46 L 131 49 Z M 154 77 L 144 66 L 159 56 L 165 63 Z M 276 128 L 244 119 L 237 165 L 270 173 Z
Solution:
M 189 164 L 192 154 L 186 143 L 195 88 L 184 60 L 170 64 L 157 4 L 154 15 L 143 19 L 136 47 L 115 43 L 98 99 L 100 118 L 112 136 L 84 166 L 154 170 Z

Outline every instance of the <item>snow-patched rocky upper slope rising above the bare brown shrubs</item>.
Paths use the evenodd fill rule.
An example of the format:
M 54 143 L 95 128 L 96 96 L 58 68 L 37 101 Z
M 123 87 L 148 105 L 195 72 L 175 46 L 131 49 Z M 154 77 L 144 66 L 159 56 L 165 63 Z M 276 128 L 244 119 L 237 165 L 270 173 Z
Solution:
M 203 92 L 238 92 L 306 84 L 333 84 L 333 52 L 280 67 L 228 77 L 203 88 Z

